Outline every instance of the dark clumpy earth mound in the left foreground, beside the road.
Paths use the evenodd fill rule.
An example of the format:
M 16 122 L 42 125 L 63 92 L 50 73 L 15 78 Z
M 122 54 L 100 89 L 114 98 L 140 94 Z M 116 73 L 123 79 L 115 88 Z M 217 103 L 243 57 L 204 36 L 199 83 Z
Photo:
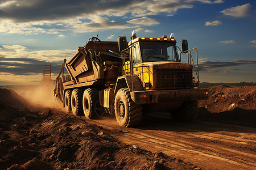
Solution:
M 24 102 L 0 88 L 0 169 L 200 169 L 119 142 L 80 117 Z

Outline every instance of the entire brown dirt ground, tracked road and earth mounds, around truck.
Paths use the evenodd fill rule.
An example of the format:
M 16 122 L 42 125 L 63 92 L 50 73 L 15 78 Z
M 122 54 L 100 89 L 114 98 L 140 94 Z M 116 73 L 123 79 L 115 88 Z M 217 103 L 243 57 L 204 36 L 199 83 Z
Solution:
M 147 113 L 137 128 L 123 128 L 115 118 L 87 120 L 38 102 L 32 107 L 0 89 L 0 169 L 31 163 L 48 169 L 255 169 L 256 87 L 209 92 L 195 122 Z

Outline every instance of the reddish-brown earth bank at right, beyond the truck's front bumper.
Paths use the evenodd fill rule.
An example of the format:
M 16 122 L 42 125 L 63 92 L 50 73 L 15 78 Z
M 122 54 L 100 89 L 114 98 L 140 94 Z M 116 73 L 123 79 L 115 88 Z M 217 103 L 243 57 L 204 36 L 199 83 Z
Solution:
M 197 120 L 256 127 L 256 86 L 209 87 L 208 100 L 199 101 Z

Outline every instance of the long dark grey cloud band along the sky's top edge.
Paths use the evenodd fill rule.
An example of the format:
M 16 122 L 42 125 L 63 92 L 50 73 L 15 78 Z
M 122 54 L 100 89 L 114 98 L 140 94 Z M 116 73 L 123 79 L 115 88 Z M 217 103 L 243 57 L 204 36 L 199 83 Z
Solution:
M 174 15 L 180 8 L 192 8 L 193 5 L 174 0 L 141 1 L 49 1 L 49 0 L 13 0 L 2 2 L 0 19 L 10 19 L 15 23 L 45 20 L 63 20 L 86 18 L 86 15 L 100 16 L 148 16 L 156 14 Z M 61 24 L 61 23 L 58 23 Z

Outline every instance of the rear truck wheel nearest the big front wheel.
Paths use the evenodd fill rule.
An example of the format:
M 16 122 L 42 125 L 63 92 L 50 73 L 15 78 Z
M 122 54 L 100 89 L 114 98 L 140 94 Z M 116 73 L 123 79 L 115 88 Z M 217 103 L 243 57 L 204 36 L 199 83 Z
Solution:
M 97 116 L 96 103 L 98 101 L 98 90 L 95 88 L 87 88 L 82 95 L 82 108 L 84 109 L 84 116 L 92 119 Z

